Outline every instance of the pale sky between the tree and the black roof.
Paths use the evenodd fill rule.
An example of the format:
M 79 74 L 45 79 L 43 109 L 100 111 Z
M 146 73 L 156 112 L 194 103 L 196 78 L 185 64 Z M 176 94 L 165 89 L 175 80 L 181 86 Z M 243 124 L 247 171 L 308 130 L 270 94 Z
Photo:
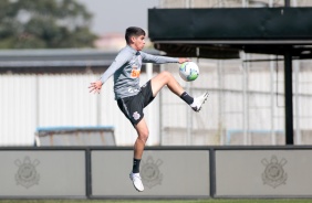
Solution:
M 77 0 L 93 13 L 92 31 L 97 35 L 124 33 L 128 26 L 147 31 L 147 9 L 158 7 L 159 0 Z

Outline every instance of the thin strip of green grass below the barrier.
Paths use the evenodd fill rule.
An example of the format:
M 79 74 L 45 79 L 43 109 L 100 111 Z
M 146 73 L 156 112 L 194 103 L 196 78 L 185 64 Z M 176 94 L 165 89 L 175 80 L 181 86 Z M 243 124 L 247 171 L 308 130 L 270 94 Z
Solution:
M 0 200 L 0 203 L 311 203 L 312 200 L 261 199 L 261 200 Z

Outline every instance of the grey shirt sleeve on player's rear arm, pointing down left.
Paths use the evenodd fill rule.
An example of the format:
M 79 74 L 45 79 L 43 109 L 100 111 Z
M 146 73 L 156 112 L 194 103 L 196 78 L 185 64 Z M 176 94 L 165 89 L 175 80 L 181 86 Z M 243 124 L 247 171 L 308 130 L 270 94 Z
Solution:
M 100 77 L 101 82 L 104 84 L 118 68 L 121 68 L 125 63 L 131 60 L 131 54 L 126 52 L 119 52 L 115 57 L 114 62 Z

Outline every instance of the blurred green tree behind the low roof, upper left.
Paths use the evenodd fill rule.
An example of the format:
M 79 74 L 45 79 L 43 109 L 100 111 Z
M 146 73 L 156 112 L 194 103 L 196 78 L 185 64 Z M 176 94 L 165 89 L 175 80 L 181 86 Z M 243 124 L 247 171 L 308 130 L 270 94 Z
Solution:
M 90 47 L 91 20 L 75 0 L 1 0 L 0 49 Z

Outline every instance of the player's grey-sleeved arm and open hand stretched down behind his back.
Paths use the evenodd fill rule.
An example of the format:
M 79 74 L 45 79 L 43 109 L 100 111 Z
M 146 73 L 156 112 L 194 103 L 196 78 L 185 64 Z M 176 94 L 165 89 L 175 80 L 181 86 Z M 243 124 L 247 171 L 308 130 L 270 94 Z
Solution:
M 127 52 L 119 52 L 114 62 L 110 65 L 110 67 L 103 73 L 100 79 L 90 84 L 89 89 L 90 93 L 97 93 L 103 86 L 103 84 L 118 70 L 121 68 L 126 62 L 131 58 L 129 53 Z

